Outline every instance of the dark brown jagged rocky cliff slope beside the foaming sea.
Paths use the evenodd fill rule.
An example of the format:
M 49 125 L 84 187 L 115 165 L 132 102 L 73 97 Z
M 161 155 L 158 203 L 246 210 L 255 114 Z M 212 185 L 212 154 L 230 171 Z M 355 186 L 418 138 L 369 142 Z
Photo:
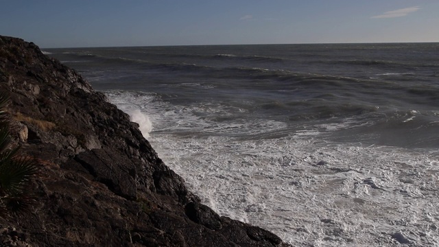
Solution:
M 126 113 L 33 43 L 0 36 L 0 90 L 10 92 L 23 155 L 42 166 L 34 183 L 36 209 L 0 218 L 1 226 L 17 228 L 14 236 L 3 233 L 9 242 L 285 246 L 268 231 L 200 204 Z

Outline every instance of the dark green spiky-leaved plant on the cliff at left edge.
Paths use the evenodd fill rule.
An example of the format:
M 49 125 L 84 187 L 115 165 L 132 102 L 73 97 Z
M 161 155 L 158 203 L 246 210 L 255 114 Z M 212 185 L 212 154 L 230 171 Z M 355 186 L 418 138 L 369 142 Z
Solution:
M 35 201 L 29 185 L 38 172 L 34 159 L 18 156 L 19 147 L 12 145 L 8 101 L 8 95 L 0 93 L 0 217 L 29 209 Z

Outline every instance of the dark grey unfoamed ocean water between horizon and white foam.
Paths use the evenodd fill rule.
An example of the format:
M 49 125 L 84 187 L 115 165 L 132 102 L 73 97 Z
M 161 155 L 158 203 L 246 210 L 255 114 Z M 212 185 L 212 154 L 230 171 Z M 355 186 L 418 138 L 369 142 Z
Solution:
M 193 112 L 213 124 L 257 119 L 286 124 L 251 138 L 325 132 L 319 126 L 340 124 L 322 138 L 439 147 L 438 43 L 47 51 L 101 91 L 155 93 L 182 108 L 213 104 L 226 113 Z

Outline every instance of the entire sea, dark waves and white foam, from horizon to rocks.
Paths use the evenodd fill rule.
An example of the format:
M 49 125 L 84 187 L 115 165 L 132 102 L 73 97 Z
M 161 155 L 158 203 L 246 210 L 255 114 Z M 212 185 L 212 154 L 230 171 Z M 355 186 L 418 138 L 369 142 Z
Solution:
M 293 246 L 439 246 L 439 43 L 43 50 L 219 215 Z

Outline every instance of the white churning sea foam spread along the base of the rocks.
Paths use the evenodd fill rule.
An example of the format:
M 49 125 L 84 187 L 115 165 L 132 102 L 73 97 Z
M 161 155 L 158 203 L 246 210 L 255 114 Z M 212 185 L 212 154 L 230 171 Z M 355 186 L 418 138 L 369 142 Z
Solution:
M 436 151 L 320 138 L 348 128 L 349 119 L 279 138 L 242 139 L 233 133 L 282 132 L 285 124 L 213 125 L 199 114 L 236 109 L 171 106 L 148 93 L 107 95 L 122 110 L 150 117 L 157 128 L 148 140 L 156 152 L 220 215 L 267 228 L 293 246 L 439 244 Z

